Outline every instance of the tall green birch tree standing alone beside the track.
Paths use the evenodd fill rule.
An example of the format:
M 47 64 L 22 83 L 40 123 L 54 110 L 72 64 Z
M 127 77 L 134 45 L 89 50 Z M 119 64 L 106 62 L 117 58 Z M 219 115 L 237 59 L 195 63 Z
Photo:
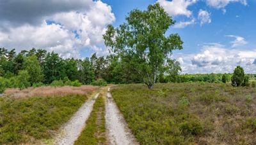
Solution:
M 145 11 L 132 10 L 126 20 L 117 28 L 108 25 L 103 36 L 105 45 L 121 60 L 129 62 L 128 65 L 152 89 L 172 50 L 182 49 L 183 42 L 178 34 L 166 37 L 174 21 L 159 3 L 149 5 Z

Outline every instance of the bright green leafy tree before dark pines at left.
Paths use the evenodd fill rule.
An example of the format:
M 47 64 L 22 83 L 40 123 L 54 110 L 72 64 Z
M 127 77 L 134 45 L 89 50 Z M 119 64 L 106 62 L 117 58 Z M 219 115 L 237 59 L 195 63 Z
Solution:
M 25 59 L 24 69 L 28 71 L 30 76 L 29 82 L 31 84 L 43 81 L 44 75 L 42 74 L 42 68 L 35 55 L 31 55 Z

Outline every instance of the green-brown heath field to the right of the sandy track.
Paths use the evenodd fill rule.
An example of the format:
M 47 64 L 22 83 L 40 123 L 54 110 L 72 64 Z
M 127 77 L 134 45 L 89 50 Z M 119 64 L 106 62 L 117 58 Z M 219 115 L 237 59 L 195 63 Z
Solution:
M 140 144 L 256 144 L 256 89 L 221 83 L 111 91 Z

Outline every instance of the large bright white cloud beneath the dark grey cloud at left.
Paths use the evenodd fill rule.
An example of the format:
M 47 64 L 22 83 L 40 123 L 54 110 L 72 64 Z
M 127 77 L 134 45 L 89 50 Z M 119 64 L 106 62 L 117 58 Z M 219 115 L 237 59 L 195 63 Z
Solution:
M 44 17 L 40 25 L 12 25 L 8 30 L 0 30 L 1 47 L 16 48 L 18 51 L 45 48 L 60 53 L 61 57 L 79 57 L 81 50 L 90 48 L 106 55 L 108 51 L 104 47 L 102 34 L 106 25 L 115 21 L 115 15 L 111 7 L 102 1 L 88 4 L 90 6 L 81 11 L 60 11 Z M 53 23 L 47 24 L 46 21 Z

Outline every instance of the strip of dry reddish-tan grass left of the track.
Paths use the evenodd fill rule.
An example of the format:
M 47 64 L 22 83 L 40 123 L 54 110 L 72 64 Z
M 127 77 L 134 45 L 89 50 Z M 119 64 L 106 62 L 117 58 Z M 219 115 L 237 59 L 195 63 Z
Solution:
M 26 88 L 20 90 L 19 88 L 8 88 L 4 93 L 7 96 L 15 98 L 24 98 L 24 97 L 51 97 L 51 96 L 66 96 L 66 95 L 89 95 L 93 91 L 97 90 L 98 86 L 83 85 L 79 87 L 75 86 L 41 86 L 38 88 Z

